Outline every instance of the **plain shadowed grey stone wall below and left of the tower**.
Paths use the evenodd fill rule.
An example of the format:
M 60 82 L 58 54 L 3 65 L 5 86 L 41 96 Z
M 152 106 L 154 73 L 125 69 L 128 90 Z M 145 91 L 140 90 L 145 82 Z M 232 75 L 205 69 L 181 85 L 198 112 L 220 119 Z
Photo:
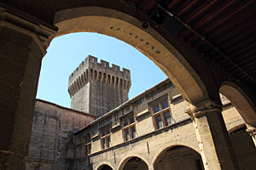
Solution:
M 73 133 L 95 116 L 37 99 L 26 170 L 74 169 Z

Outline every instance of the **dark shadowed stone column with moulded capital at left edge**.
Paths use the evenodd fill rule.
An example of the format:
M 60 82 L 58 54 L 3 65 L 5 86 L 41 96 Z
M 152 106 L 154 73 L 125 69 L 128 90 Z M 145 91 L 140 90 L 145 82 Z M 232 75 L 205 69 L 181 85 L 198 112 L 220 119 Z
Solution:
M 55 32 L 0 6 L 0 169 L 25 169 L 41 60 Z

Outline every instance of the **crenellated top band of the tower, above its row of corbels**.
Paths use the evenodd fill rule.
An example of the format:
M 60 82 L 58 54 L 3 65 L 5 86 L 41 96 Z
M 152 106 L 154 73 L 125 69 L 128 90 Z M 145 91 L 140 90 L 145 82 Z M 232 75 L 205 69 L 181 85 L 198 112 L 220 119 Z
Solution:
M 90 70 L 90 69 L 92 69 L 93 71 L 106 73 L 115 77 L 125 77 L 125 79 L 131 80 L 131 75 L 130 75 L 131 73 L 128 69 L 123 68 L 122 71 L 120 71 L 119 65 L 112 64 L 112 66 L 110 67 L 108 61 L 101 59 L 101 62 L 98 63 L 96 57 L 88 55 L 84 59 L 84 61 L 82 61 L 79 64 L 79 67 L 77 67 L 73 71 L 73 73 L 69 76 L 68 85 L 75 82 L 81 75 L 84 74 L 86 70 Z

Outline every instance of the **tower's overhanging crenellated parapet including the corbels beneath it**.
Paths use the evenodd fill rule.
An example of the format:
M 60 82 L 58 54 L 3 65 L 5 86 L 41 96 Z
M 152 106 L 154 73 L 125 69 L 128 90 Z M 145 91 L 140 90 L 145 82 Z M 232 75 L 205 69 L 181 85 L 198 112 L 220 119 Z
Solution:
M 79 64 L 68 79 L 68 93 L 72 98 L 88 82 L 108 85 L 112 88 L 127 90 L 131 88 L 131 73 L 128 69 L 120 70 L 119 65 L 109 66 L 107 61 L 89 55 Z

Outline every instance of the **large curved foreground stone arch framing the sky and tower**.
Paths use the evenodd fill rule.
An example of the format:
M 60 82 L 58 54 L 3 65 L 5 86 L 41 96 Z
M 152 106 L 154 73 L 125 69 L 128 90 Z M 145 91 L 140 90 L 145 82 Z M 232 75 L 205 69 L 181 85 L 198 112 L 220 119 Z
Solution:
M 116 37 L 152 59 L 189 103 L 195 105 L 209 98 L 201 77 L 184 58 L 191 54 L 180 47 L 182 43 L 174 39 L 171 44 L 150 26 L 143 28 L 143 22 L 129 14 L 101 7 L 69 8 L 55 14 L 55 26 L 59 28 L 57 37 L 82 31 Z

